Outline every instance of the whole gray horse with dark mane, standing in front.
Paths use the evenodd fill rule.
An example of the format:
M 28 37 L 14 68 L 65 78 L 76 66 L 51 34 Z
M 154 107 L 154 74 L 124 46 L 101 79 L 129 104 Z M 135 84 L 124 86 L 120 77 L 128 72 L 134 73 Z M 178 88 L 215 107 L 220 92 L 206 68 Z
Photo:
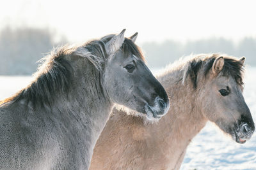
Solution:
M 125 30 L 124 30 L 125 31 Z M 124 31 L 63 47 L 0 105 L 0 169 L 88 169 L 114 103 L 161 118 L 168 96 Z

